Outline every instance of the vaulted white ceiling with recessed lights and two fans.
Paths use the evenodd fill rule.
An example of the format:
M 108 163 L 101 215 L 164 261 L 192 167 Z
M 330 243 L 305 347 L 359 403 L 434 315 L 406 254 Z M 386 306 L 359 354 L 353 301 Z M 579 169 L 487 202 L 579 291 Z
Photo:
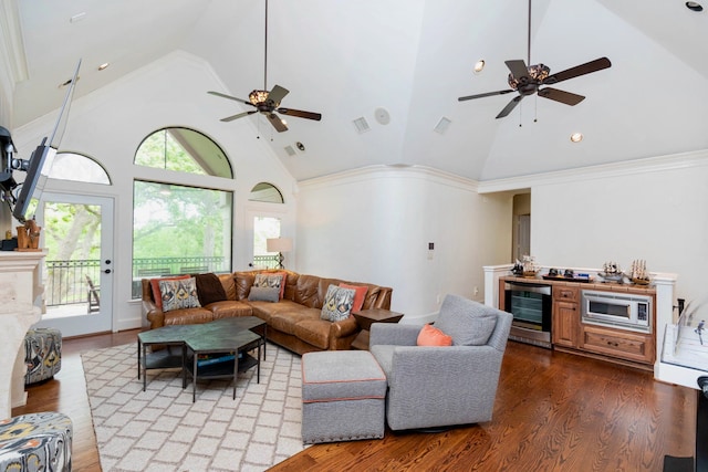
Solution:
M 527 0 L 270 0 L 268 88 L 290 90 L 284 107 L 323 115 L 290 117 L 271 145 L 299 180 L 374 164 L 490 180 L 705 149 L 706 3 L 696 13 L 683 0 L 534 0 L 531 63 L 553 73 L 607 56 L 612 67 L 556 86 L 586 96 L 574 107 L 531 96 L 494 119 L 514 94 L 457 98 L 508 87 L 504 61 L 527 59 Z M 175 50 L 208 62 L 220 92 L 246 98 L 263 86 L 264 0 L 3 0 L 0 10 L 6 127 L 59 107 L 79 57 L 80 95 Z M 473 74 L 479 59 L 487 67 Z M 215 123 L 248 109 L 206 93 L 195 106 Z M 261 115 L 230 125 L 257 119 L 270 135 Z M 288 156 L 296 141 L 306 151 Z

